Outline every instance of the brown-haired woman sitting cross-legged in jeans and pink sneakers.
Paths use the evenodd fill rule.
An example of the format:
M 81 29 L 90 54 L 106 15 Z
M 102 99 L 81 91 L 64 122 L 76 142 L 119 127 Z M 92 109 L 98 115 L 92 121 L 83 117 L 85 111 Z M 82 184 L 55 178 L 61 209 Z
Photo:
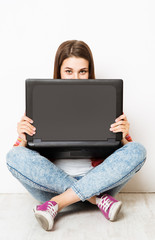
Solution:
M 82 41 L 62 43 L 55 56 L 54 79 L 95 79 L 93 56 Z M 122 203 L 113 196 L 140 170 L 146 150 L 132 142 L 129 122 L 123 114 L 109 126 L 110 131 L 123 133 L 123 146 L 105 160 L 73 159 L 49 161 L 28 149 L 26 135 L 35 134 L 33 120 L 23 116 L 17 125 L 18 139 L 7 154 L 11 173 L 40 202 L 34 208 L 38 222 L 51 230 L 54 218 L 64 207 L 78 201 L 96 204 L 103 215 L 114 221 Z

